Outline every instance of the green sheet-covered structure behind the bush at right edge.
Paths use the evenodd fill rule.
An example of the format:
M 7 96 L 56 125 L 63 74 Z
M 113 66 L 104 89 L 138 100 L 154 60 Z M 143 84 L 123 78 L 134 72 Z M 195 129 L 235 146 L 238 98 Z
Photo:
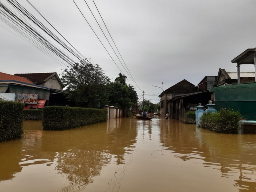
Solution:
M 216 110 L 230 108 L 239 111 L 245 120 L 256 120 L 256 82 L 226 84 L 210 88 Z

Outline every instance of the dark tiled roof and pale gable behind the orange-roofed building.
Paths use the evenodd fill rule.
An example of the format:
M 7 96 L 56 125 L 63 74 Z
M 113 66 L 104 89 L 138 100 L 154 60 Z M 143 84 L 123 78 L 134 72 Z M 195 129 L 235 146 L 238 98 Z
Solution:
M 62 90 L 62 84 L 60 78 L 56 72 L 51 73 L 24 73 L 24 74 L 14 74 L 15 76 L 20 76 L 27 78 L 36 85 L 48 87 L 56 90 Z

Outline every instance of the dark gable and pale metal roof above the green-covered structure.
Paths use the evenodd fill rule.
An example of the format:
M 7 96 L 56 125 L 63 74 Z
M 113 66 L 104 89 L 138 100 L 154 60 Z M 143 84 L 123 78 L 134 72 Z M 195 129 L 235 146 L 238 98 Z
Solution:
M 255 81 L 255 72 L 240 72 L 240 83 L 249 83 Z M 237 72 L 226 72 L 225 69 L 219 69 L 216 79 L 216 87 L 224 84 L 237 84 Z

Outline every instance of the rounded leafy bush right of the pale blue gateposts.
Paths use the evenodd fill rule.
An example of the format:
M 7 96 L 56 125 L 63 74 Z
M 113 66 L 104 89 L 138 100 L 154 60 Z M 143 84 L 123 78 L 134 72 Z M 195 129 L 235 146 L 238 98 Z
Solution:
M 216 113 L 204 113 L 198 126 L 219 133 L 237 133 L 240 119 L 240 112 L 222 108 Z

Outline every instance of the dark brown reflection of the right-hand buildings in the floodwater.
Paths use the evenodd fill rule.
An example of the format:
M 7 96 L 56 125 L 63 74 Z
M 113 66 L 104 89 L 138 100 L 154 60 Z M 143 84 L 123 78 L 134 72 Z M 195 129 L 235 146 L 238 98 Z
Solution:
M 255 135 L 219 134 L 176 120 L 161 123 L 162 146 L 176 158 L 203 160 L 205 167 L 220 170 L 222 177 L 235 176 L 240 192 L 256 191 Z

